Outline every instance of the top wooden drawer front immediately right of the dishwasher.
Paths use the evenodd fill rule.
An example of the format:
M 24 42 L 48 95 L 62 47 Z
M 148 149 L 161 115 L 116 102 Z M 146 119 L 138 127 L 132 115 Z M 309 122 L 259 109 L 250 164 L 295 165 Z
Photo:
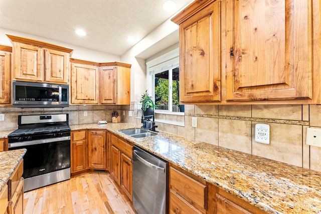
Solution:
M 207 193 L 205 184 L 170 167 L 170 188 L 178 195 L 182 196 L 191 205 L 205 211 Z

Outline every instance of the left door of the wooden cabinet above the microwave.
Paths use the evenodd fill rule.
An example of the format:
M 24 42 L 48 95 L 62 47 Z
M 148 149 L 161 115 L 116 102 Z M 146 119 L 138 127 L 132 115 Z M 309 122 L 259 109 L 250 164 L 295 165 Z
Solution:
M 13 43 L 13 79 L 43 81 L 42 48 L 23 43 Z

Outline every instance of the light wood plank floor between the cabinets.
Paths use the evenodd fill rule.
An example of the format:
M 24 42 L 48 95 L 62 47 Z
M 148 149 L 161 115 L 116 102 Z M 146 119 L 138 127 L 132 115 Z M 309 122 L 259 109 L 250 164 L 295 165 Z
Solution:
M 25 214 L 136 213 L 109 173 L 86 172 L 25 192 Z

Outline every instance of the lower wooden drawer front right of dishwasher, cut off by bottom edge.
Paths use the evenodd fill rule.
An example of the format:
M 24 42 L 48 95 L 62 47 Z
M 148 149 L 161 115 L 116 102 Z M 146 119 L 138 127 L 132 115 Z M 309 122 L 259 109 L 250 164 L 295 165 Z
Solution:
M 170 191 L 170 214 L 201 214 L 199 210 L 177 195 L 173 189 Z

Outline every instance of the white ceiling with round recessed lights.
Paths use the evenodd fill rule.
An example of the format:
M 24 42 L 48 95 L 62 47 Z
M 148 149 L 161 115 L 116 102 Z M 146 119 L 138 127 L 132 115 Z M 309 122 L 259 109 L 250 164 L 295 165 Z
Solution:
M 171 12 L 163 10 L 164 2 L 0 0 L 0 28 L 121 56 L 191 0 L 175 0 L 176 9 Z M 75 35 L 78 28 L 87 36 Z M 128 42 L 128 36 L 135 37 L 136 42 Z

